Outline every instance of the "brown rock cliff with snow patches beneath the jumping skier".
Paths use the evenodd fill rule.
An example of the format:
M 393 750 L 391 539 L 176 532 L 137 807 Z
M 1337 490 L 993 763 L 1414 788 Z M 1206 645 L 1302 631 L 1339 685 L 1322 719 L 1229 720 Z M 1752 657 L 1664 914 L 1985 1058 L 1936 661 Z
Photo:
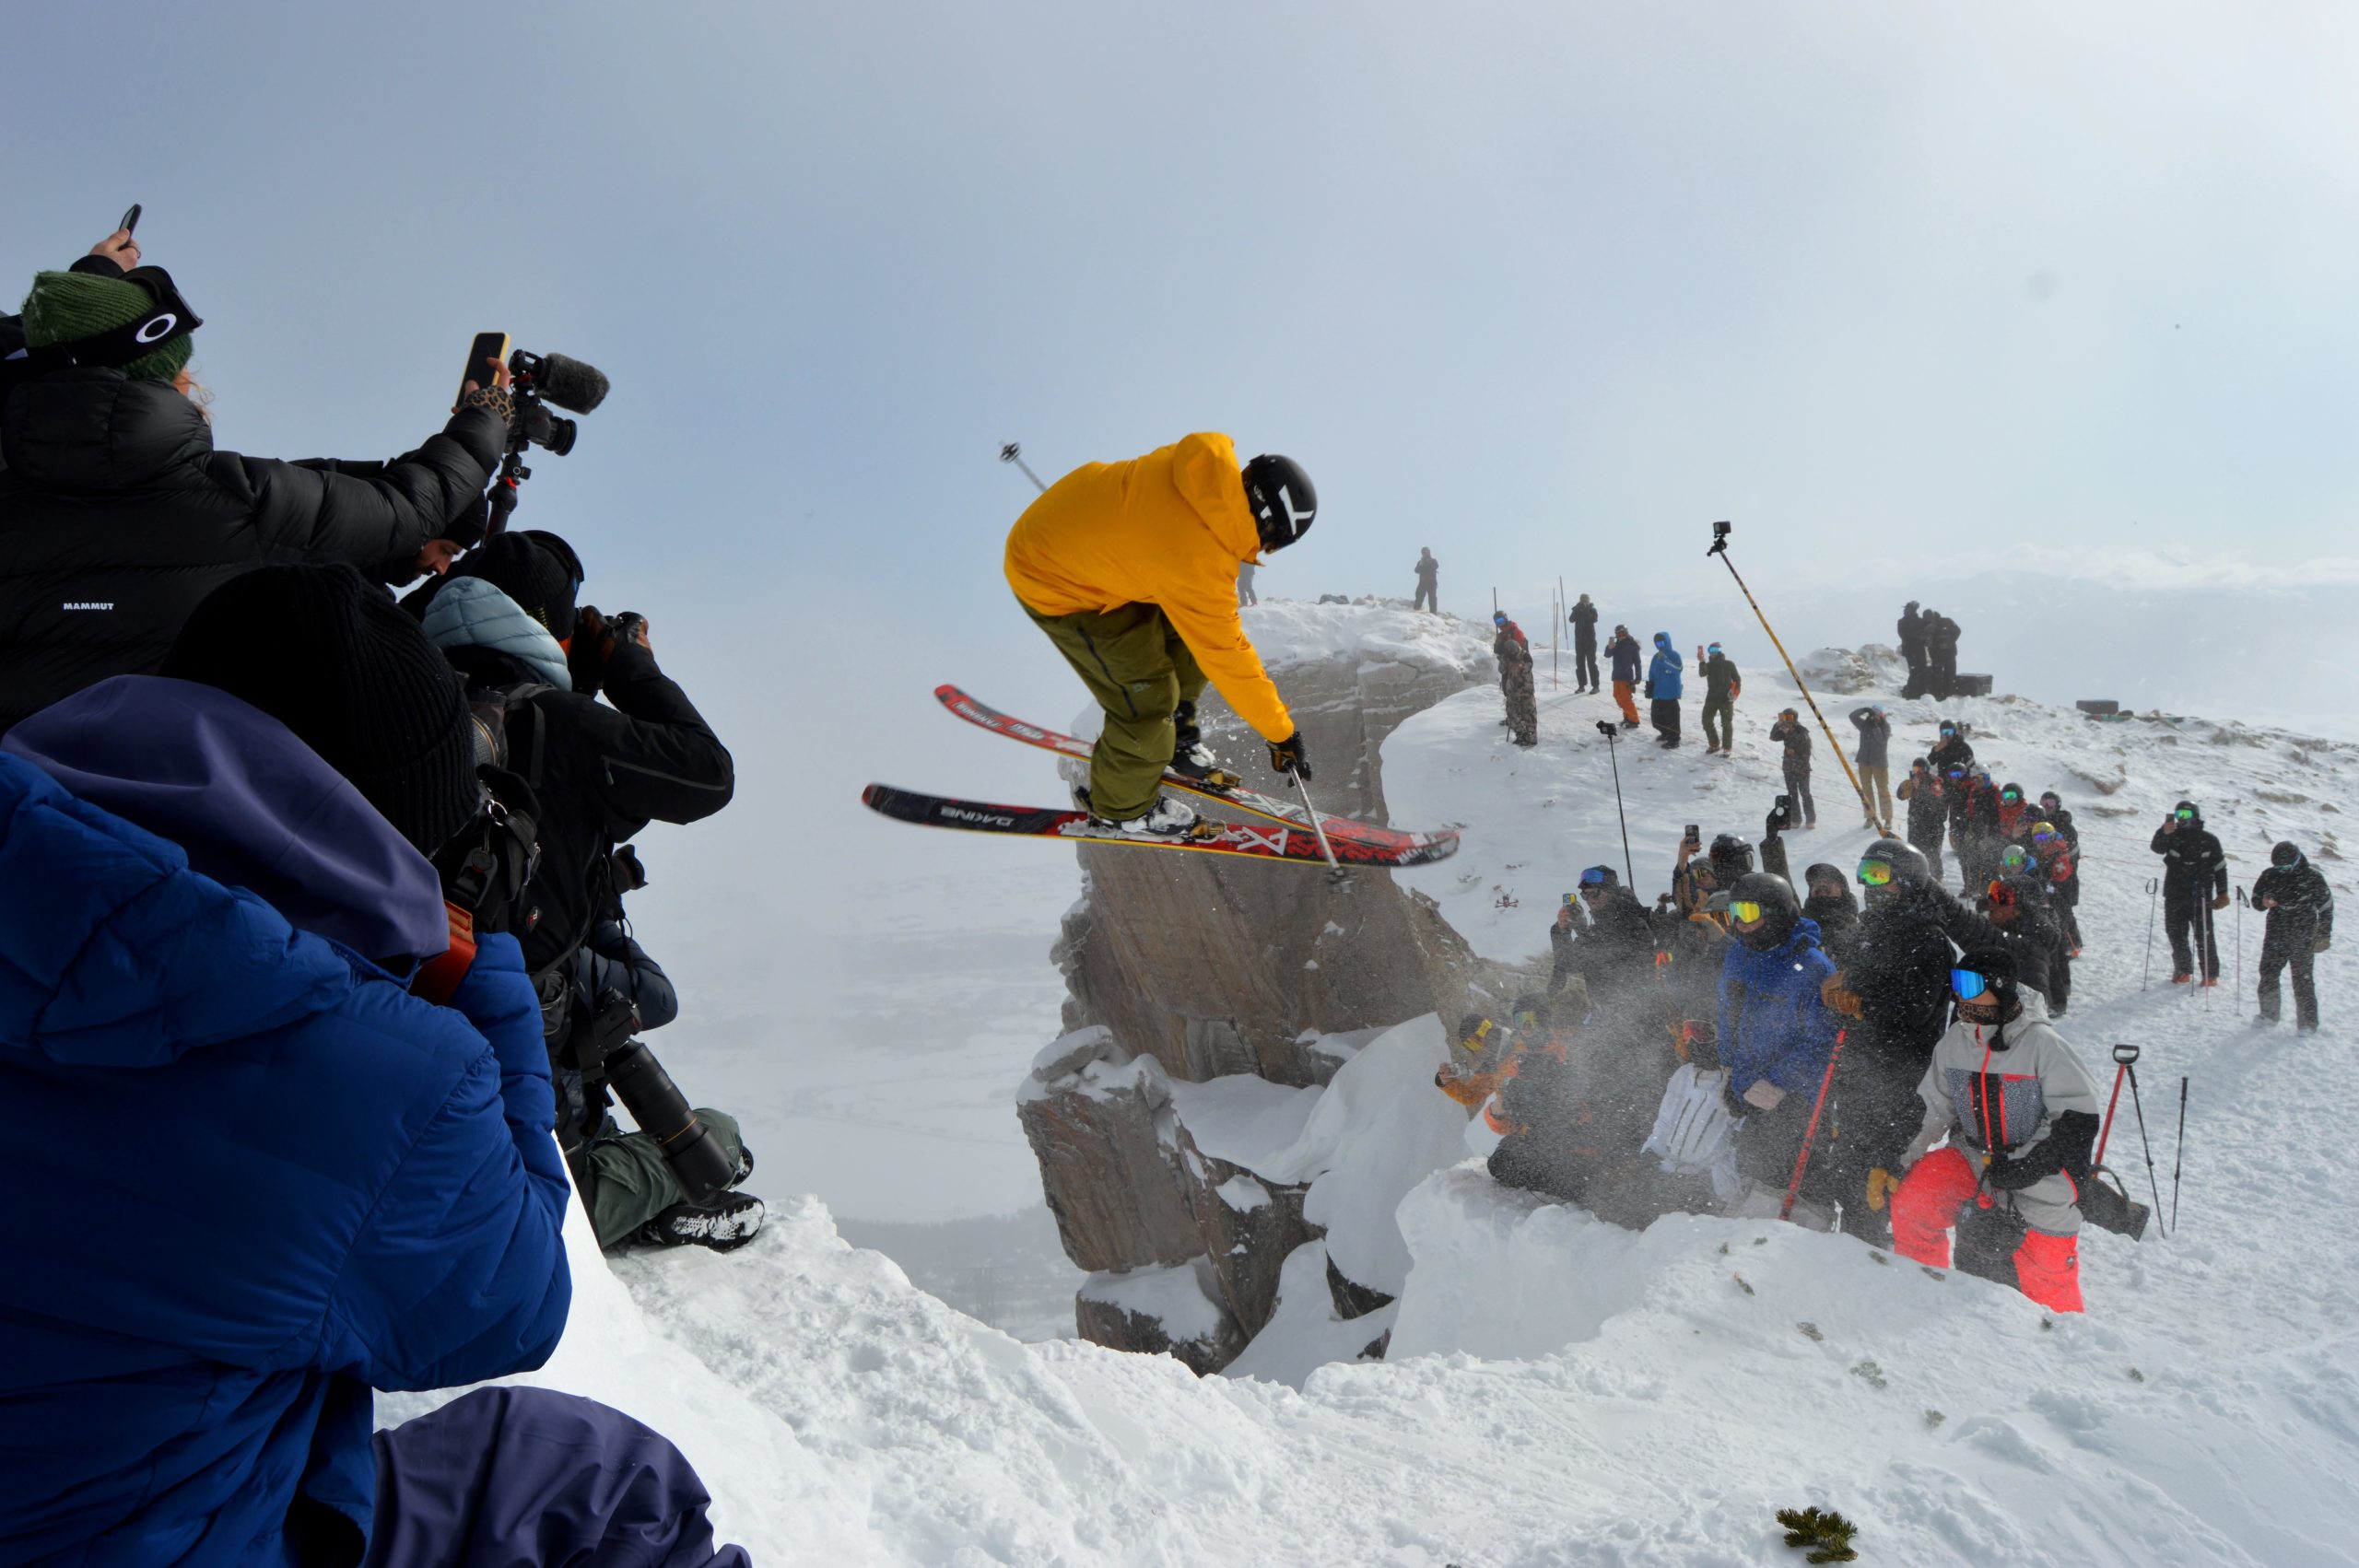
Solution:
M 1489 630 L 1387 606 L 1274 604 L 1248 613 L 1307 740 L 1321 811 L 1387 821 L 1380 747 L 1406 717 L 1496 679 Z M 1217 693 L 1201 722 L 1248 785 L 1290 792 L 1262 738 Z M 1446 823 L 1413 823 L 1439 828 Z M 1170 1108 L 1170 1080 L 1255 1075 L 1323 1085 L 1345 1056 L 1321 1040 L 1418 1014 L 1456 1019 L 1470 995 L 1505 986 L 1439 905 L 1359 870 L 1342 884 L 1293 868 L 1217 856 L 1083 846 L 1083 901 L 1066 915 L 1054 962 L 1066 976 L 1066 1028 L 1024 1089 L 1021 1118 L 1066 1254 L 1099 1278 L 1076 1320 L 1116 1349 L 1170 1349 L 1215 1370 L 1276 1306 L 1290 1252 L 1319 1236 L 1307 1186 L 1283 1186 L 1196 1148 Z M 1220 1323 L 1156 1327 L 1139 1287 L 1194 1269 Z M 1139 1273 L 1139 1271 L 1165 1273 Z M 1342 1280 L 1347 1313 L 1382 1294 Z M 1338 1297 L 1345 1299 L 1342 1294 Z M 1198 1332 L 1201 1330 L 1201 1332 Z M 1170 1344 L 1163 1344 L 1170 1342 Z

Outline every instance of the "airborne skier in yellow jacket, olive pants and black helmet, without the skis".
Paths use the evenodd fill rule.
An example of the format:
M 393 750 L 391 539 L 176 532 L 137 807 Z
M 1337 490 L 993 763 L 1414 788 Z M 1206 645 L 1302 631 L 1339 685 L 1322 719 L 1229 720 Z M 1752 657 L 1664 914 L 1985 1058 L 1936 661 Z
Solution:
M 1196 698 L 1220 686 L 1269 740 L 1269 766 L 1312 776 L 1302 731 L 1236 615 L 1236 568 L 1300 540 L 1316 514 L 1290 457 L 1236 462 L 1229 436 L 1182 436 L 1128 462 L 1085 462 L 1007 531 L 1007 587 L 1106 714 L 1087 811 L 1118 832 L 1184 837 L 1196 811 L 1163 771 L 1210 773 Z

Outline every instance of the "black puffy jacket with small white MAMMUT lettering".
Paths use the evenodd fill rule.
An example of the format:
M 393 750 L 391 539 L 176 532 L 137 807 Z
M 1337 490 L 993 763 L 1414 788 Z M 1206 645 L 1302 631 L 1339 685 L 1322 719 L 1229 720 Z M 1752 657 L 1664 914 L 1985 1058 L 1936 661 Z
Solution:
M 0 406 L 0 731 L 111 674 L 151 674 L 196 604 L 255 566 L 382 582 L 477 507 L 507 431 L 469 408 L 366 476 L 212 450 L 165 382 L 75 368 Z

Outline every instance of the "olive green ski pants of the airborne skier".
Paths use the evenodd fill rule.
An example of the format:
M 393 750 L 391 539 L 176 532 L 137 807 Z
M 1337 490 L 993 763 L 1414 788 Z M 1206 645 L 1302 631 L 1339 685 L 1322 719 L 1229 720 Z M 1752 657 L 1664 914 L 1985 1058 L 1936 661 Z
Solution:
M 1116 823 L 1146 816 L 1172 764 L 1172 710 L 1203 696 L 1196 655 L 1156 604 L 1076 615 L 1043 615 L 1026 604 L 1024 613 L 1106 710 L 1090 757 L 1090 811 Z

